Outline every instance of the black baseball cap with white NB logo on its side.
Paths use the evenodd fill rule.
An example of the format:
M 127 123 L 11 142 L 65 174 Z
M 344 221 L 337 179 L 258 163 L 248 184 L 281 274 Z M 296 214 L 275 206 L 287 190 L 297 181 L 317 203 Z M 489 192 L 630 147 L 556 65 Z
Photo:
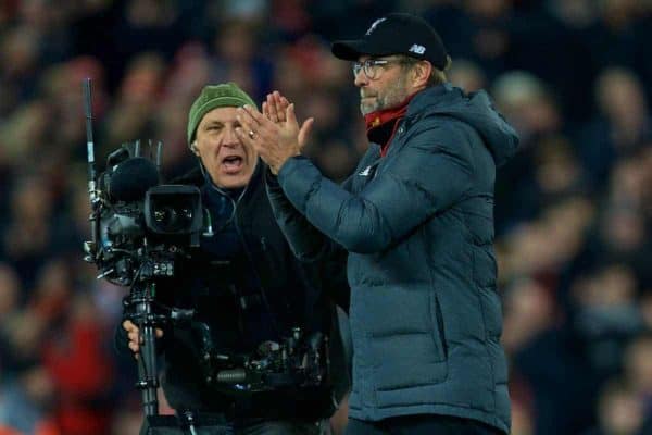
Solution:
M 365 54 L 404 54 L 428 61 L 439 70 L 448 63 L 446 47 L 432 26 L 406 13 L 391 13 L 376 20 L 361 39 L 335 41 L 331 51 L 347 61 Z

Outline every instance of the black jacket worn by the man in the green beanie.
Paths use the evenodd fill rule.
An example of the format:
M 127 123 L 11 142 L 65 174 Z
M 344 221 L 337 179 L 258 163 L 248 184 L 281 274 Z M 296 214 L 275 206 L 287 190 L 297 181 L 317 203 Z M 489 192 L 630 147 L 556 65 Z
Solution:
M 195 320 L 210 324 L 216 347 L 226 346 L 234 352 L 246 353 L 256 341 L 288 336 L 293 326 L 306 334 L 321 331 L 331 335 L 331 345 L 337 346 L 339 338 L 333 336 L 331 325 L 335 301 L 344 309 L 348 304 L 346 271 L 338 266 L 341 262 L 306 264 L 294 258 L 272 214 L 263 182 L 265 171 L 259 161 L 249 185 L 237 198 L 231 236 L 239 239 L 242 250 L 236 259 L 225 261 L 206 253 L 204 245 L 220 244 L 223 223 L 213 222 L 213 238 L 202 240 L 202 249 L 176 266 L 175 278 L 158 283 L 156 302 L 196 309 Z M 204 189 L 204 201 L 205 189 L 214 189 L 210 192 L 213 197 L 215 192 L 222 195 L 206 184 L 199 169 L 173 183 Z M 116 347 L 130 355 L 127 341 L 126 333 L 118 327 Z M 344 357 L 334 351 L 331 368 L 340 368 L 341 373 L 331 373 L 323 387 L 223 394 L 203 380 L 196 328 L 189 324 L 166 327 L 161 341 L 163 388 L 176 410 L 244 418 L 327 417 L 334 411 L 333 397 L 338 398 L 348 387 L 347 371 L 341 370 L 346 368 Z M 334 383 L 338 385 L 335 388 Z

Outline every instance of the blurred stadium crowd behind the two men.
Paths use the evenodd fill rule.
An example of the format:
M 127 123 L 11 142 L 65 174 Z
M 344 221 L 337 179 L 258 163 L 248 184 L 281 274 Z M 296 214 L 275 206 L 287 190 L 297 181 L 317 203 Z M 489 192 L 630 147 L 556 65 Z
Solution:
M 83 79 L 100 169 L 151 138 L 184 173 L 190 103 L 234 80 L 315 116 L 306 153 L 341 181 L 367 142 L 329 42 L 396 11 L 427 18 L 451 82 L 487 89 L 522 137 L 496 191 L 513 433 L 652 434 L 650 0 L 0 0 L 0 434 L 141 420 L 112 349 L 126 290 L 82 260 Z

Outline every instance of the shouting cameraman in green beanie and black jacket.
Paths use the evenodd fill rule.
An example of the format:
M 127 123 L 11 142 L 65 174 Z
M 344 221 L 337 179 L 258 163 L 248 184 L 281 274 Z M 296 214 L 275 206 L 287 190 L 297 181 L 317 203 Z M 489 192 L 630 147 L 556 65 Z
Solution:
M 214 235 L 202 236 L 199 252 L 176 268 L 180 276 L 158 285 L 161 306 L 195 310 L 190 322 L 156 330 L 163 390 L 178 414 L 193 412 L 200 428 L 203 419 L 241 434 L 329 433 L 327 419 L 348 387 L 344 370 L 318 386 L 236 391 L 209 384 L 201 363 L 202 343 L 224 355 L 254 355 L 263 343 L 281 343 L 293 327 L 304 336 L 330 335 L 330 345 L 337 344 L 333 301 L 339 295 L 348 303 L 344 271 L 336 262 L 298 262 L 280 233 L 265 194 L 265 165 L 235 133 L 236 109 L 243 104 L 255 107 L 228 83 L 204 87 L 190 108 L 188 144 L 199 165 L 175 183 L 200 188 Z M 138 332 L 125 320 L 117 346 L 138 353 Z M 338 394 L 333 378 L 341 384 Z

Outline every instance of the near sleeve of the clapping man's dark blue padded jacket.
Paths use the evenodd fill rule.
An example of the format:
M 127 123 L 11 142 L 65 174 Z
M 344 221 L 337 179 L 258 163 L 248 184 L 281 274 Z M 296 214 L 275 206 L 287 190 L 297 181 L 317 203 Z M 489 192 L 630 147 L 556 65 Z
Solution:
M 302 158 L 284 164 L 278 183 L 312 225 L 350 252 L 383 251 L 468 192 L 473 162 L 463 135 L 461 128 L 441 123 L 415 127 L 398 154 L 356 195 Z

